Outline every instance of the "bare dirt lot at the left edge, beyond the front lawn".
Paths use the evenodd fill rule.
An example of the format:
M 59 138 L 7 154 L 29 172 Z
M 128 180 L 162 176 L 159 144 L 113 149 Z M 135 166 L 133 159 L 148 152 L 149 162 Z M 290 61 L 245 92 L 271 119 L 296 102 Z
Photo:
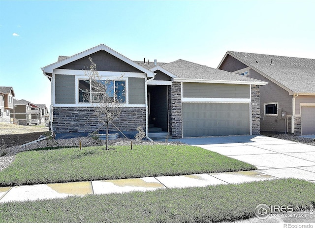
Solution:
M 15 124 L 0 124 L 0 147 L 8 148 L 32 142 L 40 135 L 47 133 L 44 125 L 22 126 Z

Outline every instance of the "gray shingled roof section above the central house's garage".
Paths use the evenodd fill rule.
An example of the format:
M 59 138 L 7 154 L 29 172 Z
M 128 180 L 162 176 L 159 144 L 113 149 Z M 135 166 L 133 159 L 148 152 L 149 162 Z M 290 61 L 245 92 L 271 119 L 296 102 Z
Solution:
M 215 69 L 206 65 L 199 65 L 185 60 L 177 60 L 162 66 L 167 71 L 176 75 L 174 81 L 212 82 L 232 84 L 265 85 L 266 82 L 244 77 L 235 73 Z

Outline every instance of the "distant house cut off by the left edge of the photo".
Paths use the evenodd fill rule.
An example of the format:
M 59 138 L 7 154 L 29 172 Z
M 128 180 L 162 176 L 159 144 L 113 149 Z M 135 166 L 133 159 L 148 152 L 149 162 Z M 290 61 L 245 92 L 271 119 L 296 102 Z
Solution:
M 14 96 L 12 87 L 0 86 L 0 122 L 10 123 Z

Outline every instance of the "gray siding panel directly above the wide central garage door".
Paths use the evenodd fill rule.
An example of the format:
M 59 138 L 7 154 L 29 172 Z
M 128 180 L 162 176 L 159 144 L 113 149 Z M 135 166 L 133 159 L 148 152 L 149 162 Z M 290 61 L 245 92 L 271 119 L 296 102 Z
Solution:
M 250 98 L 249 85 L 183 83 L 184 98 Z

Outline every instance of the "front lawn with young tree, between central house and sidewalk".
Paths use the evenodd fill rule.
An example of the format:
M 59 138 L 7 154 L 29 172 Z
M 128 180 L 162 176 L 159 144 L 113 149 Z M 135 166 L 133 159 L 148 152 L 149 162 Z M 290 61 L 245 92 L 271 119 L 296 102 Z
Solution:
M 17 154 L 0 172 L 0 186 L 253 169 L 251 164 L 185 145 L 60 148 Z

